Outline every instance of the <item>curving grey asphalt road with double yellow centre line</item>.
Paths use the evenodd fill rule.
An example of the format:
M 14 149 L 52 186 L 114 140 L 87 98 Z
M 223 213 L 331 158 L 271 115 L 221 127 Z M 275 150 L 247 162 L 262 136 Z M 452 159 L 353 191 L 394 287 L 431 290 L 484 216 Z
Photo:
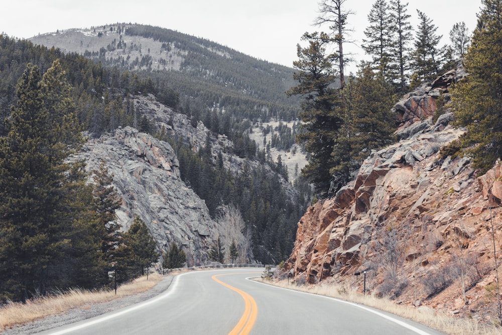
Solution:
M 262 271 L 178 275 L 155 298 L 42 334 L 439 334 L 368 307 L 246 280 Z

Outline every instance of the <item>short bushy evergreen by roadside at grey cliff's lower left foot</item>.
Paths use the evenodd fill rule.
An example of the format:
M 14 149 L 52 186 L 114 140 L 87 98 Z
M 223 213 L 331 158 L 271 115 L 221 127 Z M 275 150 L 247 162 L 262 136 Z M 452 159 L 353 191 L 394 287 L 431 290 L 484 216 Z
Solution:
M 138 216 L 124 234 L 124 244 L 130 250 L 133 266 L 141 275 L 145 274 L 145 268 L 159 260 L 160 254 L 156 251 L 157 244 L 150 235 L 145 221 Z

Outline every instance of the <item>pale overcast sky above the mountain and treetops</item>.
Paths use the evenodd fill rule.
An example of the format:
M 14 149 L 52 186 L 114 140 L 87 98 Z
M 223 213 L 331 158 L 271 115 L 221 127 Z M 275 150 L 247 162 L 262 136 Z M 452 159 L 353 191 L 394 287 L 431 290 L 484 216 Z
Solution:
M 408 14 L 414 27 L 416 10 L 424 12 L 450 43 L 449 31 L 464 21 L 472 32 L 481 0 L 409 0 Z M 374 0 L 347 0 L 352 39 L 360 43 Z M 11 0 L 2 5 L 0 32 L 29 38 L 70 28 L 90 28 L 116 22 L 141 23 L 202 37 L 247 55 L 292 66 L 296 45 L 312 26 L 318 0 Z M 356 59 L 358 46 L 346 46 Z M 349 71 L 355 71 L 352 65 Z

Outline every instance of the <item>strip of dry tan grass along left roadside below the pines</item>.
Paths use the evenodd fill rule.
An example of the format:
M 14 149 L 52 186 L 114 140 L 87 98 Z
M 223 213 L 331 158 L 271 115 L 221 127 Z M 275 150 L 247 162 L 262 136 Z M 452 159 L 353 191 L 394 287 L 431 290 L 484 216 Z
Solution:
M 148 280 L 143 276 L 129 284 L 120 285 L 117 287 L 116 295 L 114 290 L 86 291 L 76 288 L 68 292 L 56 292 L 51 296 L 31 299 L 26 303 L 12 302 L 0 308 L 0 331 L 72 308 L 88 308 L 87 305 L 90 304 L 141 293 L 151 289 L 161 280 L 161 275 L 152 273 Z

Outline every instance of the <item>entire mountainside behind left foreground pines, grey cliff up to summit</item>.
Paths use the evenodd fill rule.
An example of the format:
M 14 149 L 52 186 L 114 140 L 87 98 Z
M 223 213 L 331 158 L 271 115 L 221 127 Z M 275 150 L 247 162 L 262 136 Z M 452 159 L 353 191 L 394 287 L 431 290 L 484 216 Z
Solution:
M 159 32 L 162 36 L 156 35 Z M 115 50 L 107 48 L 109 39 L 122 41 L 118 54 L 117 46 Z M 61 59 L 72 85 L 75 111 L 87 135 L 80 155 L 88 171 L 103 160 L 113 174 L 113 186 L 122 200 L 117 211 L 122 230 L 127 230 L 134 216 L 139 215 L 155 236 L 161 253 L 176 242 L 186 249 L 190 264 L 201 264 L 209 261 L 206 251 L 212 242 L 218 236 L 229 236 L 220 226 L 227 213 L 236 208 L 243 221 L 239 234 L 245 235 L 238 238 L 253 244 L 252 252 L 245 255 L 248 261 L 278 263 L 287 258 L 296 222 L 310 195 L 303 191 L 300 194 L 292 186 L 293 181 L 288 181 L 284 165 L 267 155 L 265 148 L 259 150 L 248 133 L 276 120 L 273 118 L 296 118 L 298 104 L 284 94 L 292 81 L 291 68 L 148 26 L 72 30 L 32 40 L 0 35 L 2 116 L 10 116 L 16 102 L 16 81 L 27 63 L 38 65 L 44 73 L 53 60 Z M 88 46 L 87 51 L 92 51 L 84 50 L 79 55 L 65 43 Z M 97 49 L 90 49 L 93 43 Z M 172 56 L 179 57 L 180 67 L 149 68 L 154 58 L 149 57 L 148 48 L 150 55 L 159 55 L 155 58 L 159 64 L 161 58 Z M 117 63 L 117 57 L 122 57 L 123 63 Z M 145 60 L 135 63 L 136 57 Z M 148 66 L 147 59 L 151 62 Z M 3 135 L 5 128 L 0 126 Z M 117 132 L 125 130 L 131 143 L 148 143 L 148 155 L 136 153 L 131 143 L 117 139 Z M 301 150 L 295 151 L 302 155 Z M 115 155 L 110 156 L 112 153 Z M 154 153 L 168 154 L 158 159 L 169 162 L 172 171 L 168 175 L 172 176 L 168 178 L 164 167 L 152 165 L 146 158 Z M 156 177 L 142 179 L 141 171 L 150 171 Z M 130 178 L 139 179 L 126 182 Z M 156 179 L 173 184 L 159 186 Z M 177 195 L 177 190 L 183 193 Z M 159 195 L 164 191 L 167 194 Z M 155 201 L 151 201 L 153 198 Z M 180 202 L 174 204 L 176 201 Z M 187 208 L 200 213 L 188 214 Z M 185 210 L 186 215 L 177 216 Z

